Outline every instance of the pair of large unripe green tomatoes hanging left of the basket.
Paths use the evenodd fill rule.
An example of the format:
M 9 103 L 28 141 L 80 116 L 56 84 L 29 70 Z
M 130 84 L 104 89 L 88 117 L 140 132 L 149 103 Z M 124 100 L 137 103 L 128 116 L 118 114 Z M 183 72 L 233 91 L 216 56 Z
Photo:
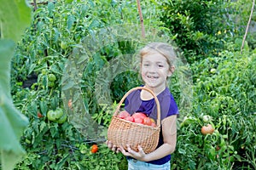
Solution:
M 49 121 L 58 122 L 61 124 L 67 121 L 67 114 L 58 107 L 55 110 L 49 110 L 47 112 L 47 118 Z

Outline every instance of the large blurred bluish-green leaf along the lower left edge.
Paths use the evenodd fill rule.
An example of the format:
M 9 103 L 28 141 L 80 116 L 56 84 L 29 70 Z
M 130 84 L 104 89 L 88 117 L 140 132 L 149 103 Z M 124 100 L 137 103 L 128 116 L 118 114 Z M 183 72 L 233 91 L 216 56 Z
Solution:
M 20 114 L 10 95 L 10 63 L 15 42 L 0 40 L 0 150 L 3 170 L 13 169 L 25 150 L 20 145 L 20 136 L 28 124 Z

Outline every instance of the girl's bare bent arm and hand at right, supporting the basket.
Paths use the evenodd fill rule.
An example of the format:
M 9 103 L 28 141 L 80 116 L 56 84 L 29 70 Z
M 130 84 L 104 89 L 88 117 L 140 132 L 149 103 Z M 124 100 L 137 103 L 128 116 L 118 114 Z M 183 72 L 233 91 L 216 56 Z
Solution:
M 120 148 L 121 152 L 125 156 L 131 156 L 139 161 L 153 161 L 172 154 L 172 152 L 175 150 L 177 142 L 176 121 L 177 115 L 168 116 L 162 121 L 164 144 L 153 152 L 145 154 L 141 147 L 138 147 L 138 152 L 131 150 L 130 147 L 128 147 L 128 151 Z

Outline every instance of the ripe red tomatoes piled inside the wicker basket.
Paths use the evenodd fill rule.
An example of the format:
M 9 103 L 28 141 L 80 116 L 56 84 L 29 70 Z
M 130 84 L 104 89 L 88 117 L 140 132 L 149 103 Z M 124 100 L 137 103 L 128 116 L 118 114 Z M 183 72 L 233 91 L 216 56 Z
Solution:
M 135 122 L 151 127 L 156 127 L 154 119 L 146 116 L 146 114 L 144 114 L 143 112 L 136 112 L 130 115 L 127 111 L 120 111 L 118 117 L 121 119 L 125 119 L 129 122 Z

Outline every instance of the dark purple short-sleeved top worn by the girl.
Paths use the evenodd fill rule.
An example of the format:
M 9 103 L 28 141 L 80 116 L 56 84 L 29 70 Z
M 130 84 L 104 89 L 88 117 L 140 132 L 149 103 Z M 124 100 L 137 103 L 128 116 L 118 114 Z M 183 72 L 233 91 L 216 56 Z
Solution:
M 140 98 L 141 91 L 142 90 L 138 89 L 136 91 L 133 91 L 131 94 L 127 96 L 127 98 L 125 99 L 125 110 L 128 111 L 131 115 L 135 112 L 143 112 L 147 114 L 149 117 L 152 117 L 154 118 L 154 120 L 156 120 L 157 110 L 156 110 L 154 99 L 142 100 Z M 166 88 L 163 92 L 158 94 L 157 99 L 160 102 L 160 120 L 161 121 L 165 119 L 167 116 L 178 114 L 177 104 L 172 94 L 170 93 L 169 88 Z M 162 129 L 160 129 L 160 139 L 159 139 L 157 148 L 160 147 L 160 145 L 162 144 L 164 144 L 164 141 L 163 141 Z M 131 157 L 128 157 L 128 159 L 131 159 Z M 171 155 L 168 155 L 158 160 L 148 161 L 148 163 L 161 165 L 170 160 L 171 160 Z

